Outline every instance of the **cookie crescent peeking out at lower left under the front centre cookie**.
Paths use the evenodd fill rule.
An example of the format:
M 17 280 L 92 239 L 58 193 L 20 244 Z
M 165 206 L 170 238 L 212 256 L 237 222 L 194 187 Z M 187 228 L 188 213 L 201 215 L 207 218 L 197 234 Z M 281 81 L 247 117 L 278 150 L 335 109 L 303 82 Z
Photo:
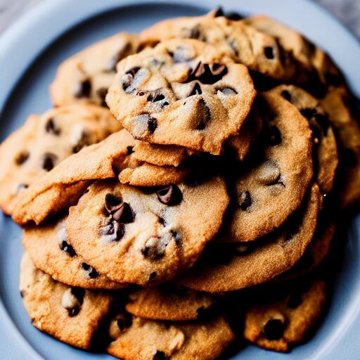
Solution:
M 126 285 L 110 281 L 84 262 L 72 248 L 65 234 L 65 219 L 23 230 L 23 247 L 32 262 L 55 281 L 86 289 L 114 290 Z

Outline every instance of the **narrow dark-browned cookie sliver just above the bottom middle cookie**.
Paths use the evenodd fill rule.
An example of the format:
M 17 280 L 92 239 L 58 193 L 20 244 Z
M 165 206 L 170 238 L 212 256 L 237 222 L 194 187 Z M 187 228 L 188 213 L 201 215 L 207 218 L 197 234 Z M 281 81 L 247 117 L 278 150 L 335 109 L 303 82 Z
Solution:
M 134 291 L 125 309 L 142 319 L 188 321 L 204 318 L 216 301 L 208 294 L 167 283 Z

